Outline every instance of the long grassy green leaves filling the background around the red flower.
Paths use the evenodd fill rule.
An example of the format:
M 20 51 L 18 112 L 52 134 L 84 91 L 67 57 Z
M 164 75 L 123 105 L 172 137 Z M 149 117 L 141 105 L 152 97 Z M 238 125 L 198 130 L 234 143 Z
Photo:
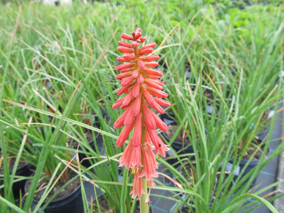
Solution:
M 120 33 L 140 27 L 148 42 L 157 43 L 155 53 L 160 55 L 164 71 L 164 91 L 172 103 L 166 112 L 171 109 L 175 113 L 178 130 L 195 133 L 186 131 L 195 153 L 193 182 L 160 159 L 160 165 L 177 177 L 183 189 L 163 183 L 156 189 L 172 192 L 173 197 L 167 199 L 177 203 L 175 212 L 182 205 L 193 206 L 200 213 L 237 212 L 252 197 L 260 201 L 257 206 L 266 205 L 275 212 L 269 202 L 276 197 L 268 202 L 260 197 L 264 189 L 247 191 L 261 169 L 281 154 L 283 142 L 268 158 L 262 154 L 262 163 L 238 178 L 233 187 L 234 174 L 226 175 L 225 167 L 231 159 L 237 167 L 252 139 L 268 125 L 273 127 L 275 116 L 268 119 L 266 113 L 276 111 L 283 102 L 283 79 L 278 78 L 284 69 L 284 7 L 280 1 L 246 5 L 229 0 L 112 0 L 60 7 L 26 0 L 11 2 L 0 4 L 1 210 L 11 207 L 11 211 L 27 212 L 36 184 L 45 173 L 48 187 L 32 210 L 36 212 L 67 167 L 77 172 L 81 183 L 91 180 L 94 190 L 100 189 L 116 212 L 135 205 L 128 196 L 132 176 L 123 172 L 122 182 L 118 179 L 118 159 L 125 145 L 114 145 L 121 128 L 115 130 L 112 125 L 122 111 L 113 110 L 111 105 L 118 99 L 115 91 L 120 86 L 115 79 Z M 209 92 L 211 96 L 205 96 Z M 211 114 L 206 105 L 213 109 Z M 109 119 L 103 118 L 101 110 Z M 88 143 L 84 128 L 92 130 L 99 151 Z M 101 134 L 100 141 L 95 140 L 96 133 Z M 271 134 L 272 128 L 264 150 Z M 66 144 L 68 138 L 78 142 L 78 152 L 87 156 L 84 161 L 91 167 L 73 158 L 77 150 Z M 15 176 L 18 163 L 10 173 L 9 155 L 36 166 L 21 207 L 15 205 L 11 189 L 22 177 Z M 178 155 L 179 163 L 193 165 L 190 157 Z M 220 181 L 216 184 L 217 178 Z M 90 212 L 90 201 L 84 193 L 82 197 L 85 212 Z M 247 211 L 255 208 L 253 204 L 245 206 Z

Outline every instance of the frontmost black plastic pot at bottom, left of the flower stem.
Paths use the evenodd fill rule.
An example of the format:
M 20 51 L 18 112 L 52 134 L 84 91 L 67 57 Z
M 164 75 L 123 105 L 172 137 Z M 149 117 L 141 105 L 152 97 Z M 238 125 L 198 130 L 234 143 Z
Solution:
M 24 192 L 27 193 L 27 181 L 24 185 Z M 38 204 L 37 200 L 32 200 L 32 206 Z M 44 206 L 46 202 L 43 202 Z M 44 209 L 44 213 L 80 213 L 83 209 L 83 200 L 81 196 L 81 186 L 75 189 L 66 197 L 58 200 L 51 201 L 47 207 Z

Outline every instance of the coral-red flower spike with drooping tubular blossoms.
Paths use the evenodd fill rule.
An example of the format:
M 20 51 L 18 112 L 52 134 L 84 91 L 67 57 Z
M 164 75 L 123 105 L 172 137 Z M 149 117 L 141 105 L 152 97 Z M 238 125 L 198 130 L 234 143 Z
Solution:
M 134 129 L 133 136 L 119 159 L 119 166 L 126 166 L 126 169 L 132 168 L 134 174 L 132 198 L 137 195 L 141 198 L 144 193 L 142 178 L 146 178 L 147 185 L 153 187 L 155 185 L 153 177 L 159 175 L 156 171 L 158 163 L 155 155 L 165 157 L 165 151 L 169 150 L 155 130 L 158 127 L 162 131 L 167 131 L 167 125 L 149 107 L 163 114 L 165 111 L 160 105 L 167 107 L 170 103 L 161 99 L 167 96 L 161 91 L 163 82 L 157 80 L 163 72 L 150 68 L 158 66 L 158 63 L 153 60 L 159 59 L 159 55 L 145 56 L 153 52 L 156 43 L 152 42 L 139 48 L 146 40 L 142 37 L 140 28 L 132 32 L 131 36 L 122 33 L 121 38 L 131 43 L 118 42 L 120 45 L 118 50 L 124 54 L 117 60 L 125 63 L 117 66 L 121 73 L 116 78 L 120 80 L 122 87 L 116 94 L 126 95 L 112 106 L 113 109 L 120 107 L 125 110 L 114 123 L 114 128 L 124 125 L 117 140 L 118 146 L 123 145 Z

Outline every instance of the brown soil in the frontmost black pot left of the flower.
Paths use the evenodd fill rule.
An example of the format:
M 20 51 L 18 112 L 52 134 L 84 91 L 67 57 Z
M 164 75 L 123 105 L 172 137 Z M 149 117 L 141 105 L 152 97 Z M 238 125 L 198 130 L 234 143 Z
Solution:
M 56 185 L 54 186 L 54 188 L 47 195 L 45 202 L 54 193 L 56 193 L 64 184 L 66 184 L 68 181 L 70 181 L 74 176 L 76 176 L 76 173 L 73 172 L 73 171 L 70 171 L 67 175 L 67 180 L 58 181 L 56 183 Z M 28 180 L 26 187 L 25 187 L 25 192 L 28 192 L 28 189 L 30 188 L 31 182 L 32 182 L 32 179 Z M 47 180 L 42 180 L 42 181 L 38 182 L 37 189 L 36 189 L 37 192 L 34 194 L 34 197 L 33 197 L 34 200 L 40 200 L 41 199 L 41 197 L 44 193 L 44 190 L 46 189 L 47 184 L 48 184 Z M 73 191 L 78 189 L 79 186 L 80 186 L 80 179 L 77 178 L 71 184 L 69 184 L 66 188 L 62 189 L 61 192 L 53 198 L 53 200 L 58 200 L 58 199 L 66 197 L 67 195 L 71 194 Z

